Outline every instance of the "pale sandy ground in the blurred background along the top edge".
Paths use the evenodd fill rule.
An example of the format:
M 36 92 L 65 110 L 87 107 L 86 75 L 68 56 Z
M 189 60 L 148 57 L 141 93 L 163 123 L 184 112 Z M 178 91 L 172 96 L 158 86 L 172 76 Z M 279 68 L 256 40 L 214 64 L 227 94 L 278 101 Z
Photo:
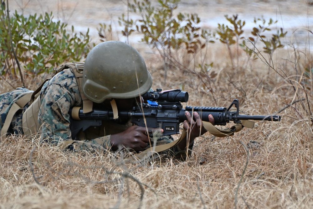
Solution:
M 132 2 L 132 0 L 129 0 Z M 118 17 L 126 13 L 127 0 L 9 0 L 10 11 L 33 14 L 53 12 L 54 18 L 74 25 L 75 30 L 90 35 L 96 42 L 97 28 L 100 23 L 112 24 L 113 29 L 120 31 Z M 152 0 L 156 4 L 156 0 Z M 181 0 L 177 12 L 198 13 L 201 26 L 215 29 L 218 23 L 226 23 L 224 15 L 239 14 L 246 21 L 245 28 L 252 27 L 254 17 L 279 20 L 277 28 L 283 27 L 301 36 L 307 34 L 301 28 L 310 29 L 313 24 L 313 6 L 310 0 Z M 312 1 L 313 2 L 313 1 Z M 313 3 L 312 3 L 313 4 Z M 135 38 L 136 39 L 136 38 Z

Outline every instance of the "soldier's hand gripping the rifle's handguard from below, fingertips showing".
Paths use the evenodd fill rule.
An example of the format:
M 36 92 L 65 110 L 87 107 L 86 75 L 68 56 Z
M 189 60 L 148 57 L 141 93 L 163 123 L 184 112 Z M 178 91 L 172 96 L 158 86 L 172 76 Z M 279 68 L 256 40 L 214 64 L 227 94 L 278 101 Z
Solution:
M 206 132 L 198 112 L 193 112 L 193 117 L 188 111 L 186 111 L 185 114 L 187 120 L 184 121 L 183 128 L 187 131 L 187 136 L 190 136 L 190 139 L 195 139 L 196 137 L 201 136 Z M 213 116 L 209 115 L 208 117 L 209 122 L 214 125 Z

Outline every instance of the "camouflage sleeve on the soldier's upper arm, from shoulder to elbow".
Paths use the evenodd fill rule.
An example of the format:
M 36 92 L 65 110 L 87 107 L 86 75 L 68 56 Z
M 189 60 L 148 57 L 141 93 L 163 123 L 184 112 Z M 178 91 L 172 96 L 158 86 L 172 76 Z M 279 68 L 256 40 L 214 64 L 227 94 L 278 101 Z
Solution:
M 80 93 L 70 69 L 59 72 L 41 89 L 38 127 L 42 141 L 58 144 L 71 140 L 69 109 L 80 105 Z

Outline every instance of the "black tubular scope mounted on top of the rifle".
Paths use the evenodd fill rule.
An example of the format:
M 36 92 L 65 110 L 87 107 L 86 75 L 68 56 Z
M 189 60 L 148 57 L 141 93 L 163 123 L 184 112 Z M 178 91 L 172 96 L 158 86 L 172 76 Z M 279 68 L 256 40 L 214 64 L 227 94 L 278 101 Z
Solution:
M 142 95 L 144 100 L 150 101 L 167 101 L 167 102 L 188 102 L 189 94 L 181 89 L 162 91 L 148 91 Z

